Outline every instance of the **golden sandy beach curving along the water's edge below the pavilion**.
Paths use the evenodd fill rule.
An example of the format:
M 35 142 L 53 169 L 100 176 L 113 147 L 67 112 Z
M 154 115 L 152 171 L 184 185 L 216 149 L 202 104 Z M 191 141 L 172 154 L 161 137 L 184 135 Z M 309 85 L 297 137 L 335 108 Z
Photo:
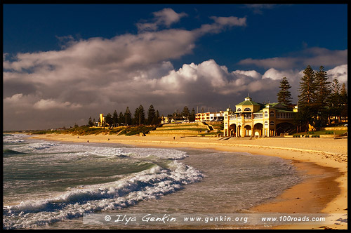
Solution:
M 347 220 L 347 139 L 333 138 L 220 138 L 117 135 L 32 135 L 67 142 L 107 142 L 139 147 L 193 147 L 249 152 L 293 161 L 308 178 L 279 197 L 251 208 L 253 213 L 343 213 Z M 282 225 L 274 229 L 347 229 L 347 221 L 333 225 Z

